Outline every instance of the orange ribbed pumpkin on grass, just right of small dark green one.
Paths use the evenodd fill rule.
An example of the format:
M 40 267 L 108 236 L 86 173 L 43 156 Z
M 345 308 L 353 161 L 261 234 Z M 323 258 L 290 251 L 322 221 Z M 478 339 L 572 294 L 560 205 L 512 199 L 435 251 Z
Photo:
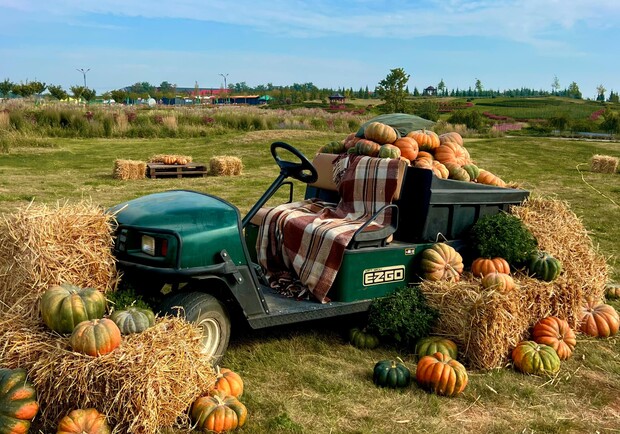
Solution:
M 460 362 L 439 352 L 422 357 L 415 375 L 423 389 L 450 397 L 463 392 L 469 381 L 467 370 Z

